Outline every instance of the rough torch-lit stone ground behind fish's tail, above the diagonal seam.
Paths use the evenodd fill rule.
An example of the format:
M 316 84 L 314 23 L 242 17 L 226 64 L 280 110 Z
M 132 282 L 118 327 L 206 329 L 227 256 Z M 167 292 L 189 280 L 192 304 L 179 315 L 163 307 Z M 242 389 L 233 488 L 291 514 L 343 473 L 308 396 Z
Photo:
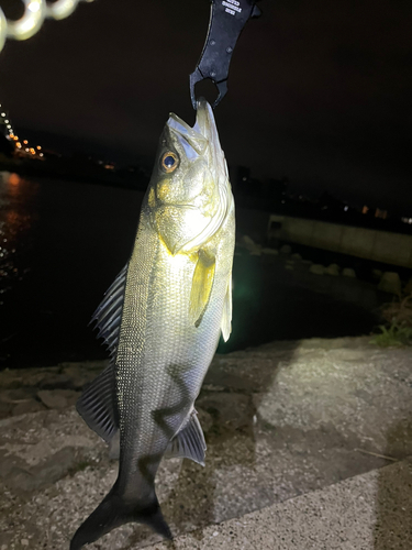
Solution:
M 104 364 L 0 373 L 0 550 L 68 549 L 111 488 L 116 462 L 74 407 Z M 309 498 L 310 507 L 313 492 L 412 455 L 412 349 L 378 349 L 366 337 L 216 355 L 197 409 L 205 468 L 164 461 L 157 493 L 175 536 L 190 532 L 192 548 L 193 541 L 214 548 L 201 544 L 202 528 L 254 518 L 296 497 Z M 145 527 L 129 525 L 88 548 L 132 550 L 158 541 Z M 290 548 L 312 548 L 302 544 Z

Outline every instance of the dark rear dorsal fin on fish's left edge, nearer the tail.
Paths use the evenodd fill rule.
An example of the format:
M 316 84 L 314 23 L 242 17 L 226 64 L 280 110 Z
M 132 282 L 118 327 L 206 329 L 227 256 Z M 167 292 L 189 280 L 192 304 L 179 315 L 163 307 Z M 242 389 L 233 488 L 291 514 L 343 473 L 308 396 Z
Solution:
M 88 427 L 107 442 L 110 442 L 119 430 L 114 393 L 114 362 L 112 361 L 83 391 L 76 404 L 77 411 Z

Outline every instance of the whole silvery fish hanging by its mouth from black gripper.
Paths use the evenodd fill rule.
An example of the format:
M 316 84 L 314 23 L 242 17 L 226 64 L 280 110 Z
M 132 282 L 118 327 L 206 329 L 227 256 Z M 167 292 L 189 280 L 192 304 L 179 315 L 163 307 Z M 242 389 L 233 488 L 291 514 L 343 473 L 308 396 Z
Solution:
M 171 538 L 155 477 L 164 457 L 204 465 L 194 402 L 220 336 L 232 330 L 234 246 L 227 165 L 201 99 L 193 127 L 170 113 L 132 254 L 92 317 L 111 359 L 77 410 L 109 444 L 119 441 L 119 473 L 70 550 L 132 521 Z

